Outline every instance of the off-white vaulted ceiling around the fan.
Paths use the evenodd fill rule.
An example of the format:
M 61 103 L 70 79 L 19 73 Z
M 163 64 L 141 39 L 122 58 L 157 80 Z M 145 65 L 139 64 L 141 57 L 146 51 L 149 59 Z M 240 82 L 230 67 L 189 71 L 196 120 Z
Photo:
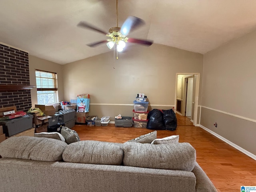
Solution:
M 256 28 L 256 0 L 119 0 L 118 25 L 129 15 L 146 24 L 128 37 L 205 54 Z M 116 0 L 0 0 L 0 42 L 58 64 L 110 51 L 80 21 L 108 32 Z

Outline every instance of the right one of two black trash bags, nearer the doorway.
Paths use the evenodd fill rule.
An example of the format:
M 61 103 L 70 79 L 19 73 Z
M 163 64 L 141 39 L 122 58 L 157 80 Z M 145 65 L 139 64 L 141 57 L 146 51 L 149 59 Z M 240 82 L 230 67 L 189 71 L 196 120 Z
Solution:
M 177 128 L 177 118 L 176 114 L 172 109 L 162 110 L 163 120 L 166 130 L 174 131 Z

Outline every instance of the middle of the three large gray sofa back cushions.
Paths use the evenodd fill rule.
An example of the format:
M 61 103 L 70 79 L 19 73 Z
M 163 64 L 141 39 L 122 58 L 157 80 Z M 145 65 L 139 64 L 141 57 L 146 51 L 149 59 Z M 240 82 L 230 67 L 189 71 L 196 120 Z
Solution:
M 62 154 L 65 162 L 121 165 L 122 144 L 102 141 L 79 141 L 69 144 Z

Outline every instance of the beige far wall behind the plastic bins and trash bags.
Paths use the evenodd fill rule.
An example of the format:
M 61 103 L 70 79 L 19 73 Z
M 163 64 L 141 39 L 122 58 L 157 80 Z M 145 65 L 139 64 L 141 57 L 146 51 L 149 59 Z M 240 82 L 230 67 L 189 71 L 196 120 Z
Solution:
M 158 44 L 130 46 L 118 57 L 111 51 L 64 65 L 64 100 L 90 94 L 90 114 L 132 116 L 133 100 L 144 93 L 151 108 L 169 109 L 174 106 L 176 73 L 202 73 L 202 54 Z

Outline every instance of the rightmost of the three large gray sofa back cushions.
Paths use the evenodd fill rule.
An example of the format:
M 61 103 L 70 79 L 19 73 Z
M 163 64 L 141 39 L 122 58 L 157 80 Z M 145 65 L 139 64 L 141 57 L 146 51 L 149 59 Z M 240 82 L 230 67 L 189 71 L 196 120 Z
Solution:
M 196 150 L 189 143 L 123 144 L 124 166 L 192 171 L 196 162 Z

